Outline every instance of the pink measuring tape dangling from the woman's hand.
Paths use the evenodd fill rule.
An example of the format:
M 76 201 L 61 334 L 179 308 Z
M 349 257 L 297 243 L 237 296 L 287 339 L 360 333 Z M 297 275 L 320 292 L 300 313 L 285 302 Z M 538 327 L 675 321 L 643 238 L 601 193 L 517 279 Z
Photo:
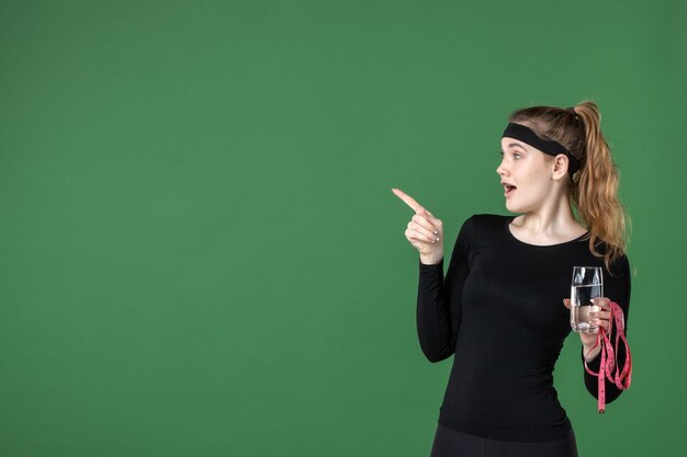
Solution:
M 599 344 L 601 345 L 601 365 L 599 368 L 599 373 L 592 372 L 587 366 L 587 361 L 585 359 L 585 369 L 587 370 L 587 373 L 598 377 L 599 379 L 598 407 L 600 414 L 602 414 L 606 409 L 605 378 L 608 378 L 620 390 L 629 388 L 630 382 L 632 381 L 632 356 L 630 355 L 630 345 L 628 344 L 628 340 L 624 336 L 624 313 L 617 302 L 611 301 L 610 315 L 612 319 L 610 320 L 608 333 L 606 332 L 606 330 L 604 330 L 602 327 L 600 327 L 596 343 L 592 347 L 592 350 L 594 350 Z M 615 351 L 609 338 L 609 334 L 613 330 L 613 322 L 616 323 L 617 328 Z M 622 372 L 618 373 L 619 367 L 616 361 L 616 355 L 618 354 L 618 343 L 620 342 L 620 339 L 622 339 L 626 349 L 626 363 L 623 364 Z

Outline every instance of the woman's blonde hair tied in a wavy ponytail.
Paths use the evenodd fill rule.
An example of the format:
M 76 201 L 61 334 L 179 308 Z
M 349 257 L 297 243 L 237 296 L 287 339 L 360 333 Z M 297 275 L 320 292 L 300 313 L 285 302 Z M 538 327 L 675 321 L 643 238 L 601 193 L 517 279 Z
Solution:
M 618 168 L 601 134 L 601 114 L 596 103 L 584 101 L 573 110 L 532 106 L 515 111 L 509 122 L 525 124 L 542 139 L 563 145 L 581 168 L 571 180 L 573 213 L 589 231 L 589 250 L 604 258 L 606 267 L 624 255 L 628 217 L 618 198 Z M 602 248 L 602 243 L 606 245 Z

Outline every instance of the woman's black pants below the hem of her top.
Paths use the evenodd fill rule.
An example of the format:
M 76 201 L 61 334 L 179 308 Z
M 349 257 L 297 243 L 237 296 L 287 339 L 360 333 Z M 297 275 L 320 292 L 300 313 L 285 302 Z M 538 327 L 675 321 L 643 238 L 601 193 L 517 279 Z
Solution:
M 563 439 L 516 443 L 481 438 L 437 426 L 430 457 L 577 457 L 575 432 Z

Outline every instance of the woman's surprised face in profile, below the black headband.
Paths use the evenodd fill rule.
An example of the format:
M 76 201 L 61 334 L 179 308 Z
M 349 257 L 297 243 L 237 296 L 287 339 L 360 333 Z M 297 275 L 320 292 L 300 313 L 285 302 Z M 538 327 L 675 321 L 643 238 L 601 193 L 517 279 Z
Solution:
M 496 173 L 504 186 L 506 208 L 511 213 L 540 209 L 553 191 L 552 158 L 509 137 L 502 138 L 500 146 L 503 159 Z

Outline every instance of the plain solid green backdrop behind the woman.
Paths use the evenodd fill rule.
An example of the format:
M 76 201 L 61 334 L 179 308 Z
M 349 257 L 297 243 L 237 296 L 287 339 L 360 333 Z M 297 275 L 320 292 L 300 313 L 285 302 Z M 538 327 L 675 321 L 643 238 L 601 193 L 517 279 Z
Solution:
M 0 455 L 429 455 L 391 187 L 450 251 L 507 115 L 585 99 L 634 376 L 599 416 L 571 334 L 555 384 L 582 456 L 684 455 L 685 4 L 2 1 Z

